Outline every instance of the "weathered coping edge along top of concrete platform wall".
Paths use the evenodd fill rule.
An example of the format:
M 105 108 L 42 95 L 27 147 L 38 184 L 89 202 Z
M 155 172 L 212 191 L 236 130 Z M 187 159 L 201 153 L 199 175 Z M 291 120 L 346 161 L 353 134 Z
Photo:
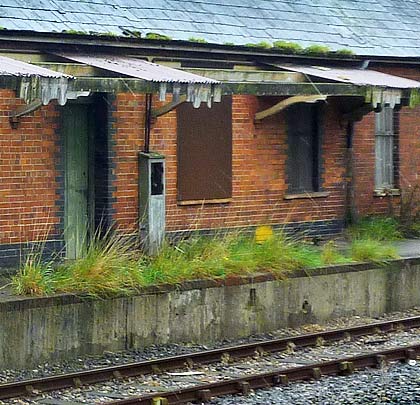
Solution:
M 401 259 L 394 259 L 387 261 L 386 265 L 391 266 L 392 268 L 402 268 L 404 266 L 420 264 L 420 256 L 415 257 L 404 257 Z M 313 269 L 302 269 L 291 272 L 287 275 L 286 278 L 276 278 L 276 276 L 269 272 L 261 272 L 252 275 L 244 276 L 232 276 L 225 279 L 199 279 L 185 281 L 181 284 L 160 284 L 156 286 L 143 287 L 139 291 L 134 292 L 130 296 L 118 296 L 109 297 L 109 298 L 97 298 L 91 297 L 88 295 L 76 295 L 76 294 L 54 294 L 45 297 L 27 297 L 27 296 L 17 296 L 17 295 L 8 295 L 0 298 L 0 312 L 9 312 L 16 311 L 26 308 L 40 308 L 40 307 L 50 307 L 58 305 L 70 305 L 76 303 L 86 303 L 88 301 L 97 301 L 97 300 L 113 300 L 113 299 L 127 299 L 135 296 L 142 295 L 156 295 L 156 294 L 165 294 L 171 291 L 188 291 L 188 290 L 201 290 L 206 288 L 218 288 L 223 286 L 239 286 L 244 284 L 256 284 L 263 283 L 268 281 L 287 281 L 291 278 L 299 277 L 316 277 L 316 276 L 326 276 L 330 274 L 338 273 L 350 273 L 350 272 L 360 272 L 371 270 L 374 267 L 380 266 L 381 264 L 375 263 L 348 263 L 340 265 L 331 265 L 325 267 L 318 267 Z

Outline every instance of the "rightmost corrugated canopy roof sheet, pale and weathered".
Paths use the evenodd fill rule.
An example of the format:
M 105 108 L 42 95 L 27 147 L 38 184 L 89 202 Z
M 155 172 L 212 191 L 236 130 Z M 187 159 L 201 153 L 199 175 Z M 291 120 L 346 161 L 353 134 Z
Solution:
M 344 69 L 326 66 L 276 65 L 282 69 L 316 76 L 334 82 L 351 83 L 357 86 L 378 86 L 396 89 L 420 87 L 420 82 L 367 69 Z

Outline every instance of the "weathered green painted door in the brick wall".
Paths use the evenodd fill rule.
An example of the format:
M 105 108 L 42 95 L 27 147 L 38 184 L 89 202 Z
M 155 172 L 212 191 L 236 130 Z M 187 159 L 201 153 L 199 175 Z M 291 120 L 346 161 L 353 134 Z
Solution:
M 89 110 L 68 104 L 63 109 L 65 137 L 64 239 L 66 256 L 83 255 L 89 229 Z

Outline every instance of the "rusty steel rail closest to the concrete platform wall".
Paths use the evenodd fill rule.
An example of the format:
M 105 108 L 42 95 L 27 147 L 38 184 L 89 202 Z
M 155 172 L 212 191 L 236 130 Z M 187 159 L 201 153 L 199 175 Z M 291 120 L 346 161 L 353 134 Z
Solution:
M 367 325 L 353 326 L 350 328 L 334 329 L 324 332 L 290 336 L 281 339 L 272 339 L 253 342 L 232 347 L 207 350 L 179 356 L 164 357 L 155 360 L 146 360 L 136 363 L 95 368 L 69 374 L 38 378 L 32 380 L 0 384 L 0 400 L 27 396 L 33 393 L 54 391 L 65 388 L 81 387 L 82 385 L 97 384 L 112 379 L 136 377 L 145 374 L 157 374 L 194 364 L 209 364 L 226 358 L 244 358 L 255 353 L 281 352 L 290 347 L 303 348 L 343 339 L 357 338 L 360 336 L 389 333 L 397 330 L 420 328 L 420 316 L 395 319 L 392 321 L 376 322 Z

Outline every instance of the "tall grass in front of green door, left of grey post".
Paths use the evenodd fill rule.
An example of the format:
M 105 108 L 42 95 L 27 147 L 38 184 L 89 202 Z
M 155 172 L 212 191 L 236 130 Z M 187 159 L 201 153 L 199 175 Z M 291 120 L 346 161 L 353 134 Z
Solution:
M 12 279 L 17 294 L 84 293 L 92 296 L 127 294 L 140 285 L 135 244 L 118 233 L 95 235 L 80 259 L 55 268 L 44 263 L 41 252 L 31 252 Z

